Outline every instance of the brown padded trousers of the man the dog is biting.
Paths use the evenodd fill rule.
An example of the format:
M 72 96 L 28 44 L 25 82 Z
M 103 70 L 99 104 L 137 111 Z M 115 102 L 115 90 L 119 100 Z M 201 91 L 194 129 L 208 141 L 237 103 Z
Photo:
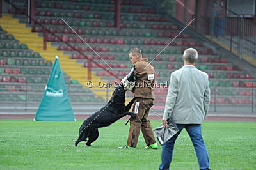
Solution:
M 136 113 L 137 116 L 130 119 L 127 146 L 134 148 L 137 146 L 140 130 L 147 145 L 156 143 L 151 123 L 148 120 L 148 112 L 150 107 L 153 106 L 153 101 L 150 98 L 136 98 L 132 112 Z

